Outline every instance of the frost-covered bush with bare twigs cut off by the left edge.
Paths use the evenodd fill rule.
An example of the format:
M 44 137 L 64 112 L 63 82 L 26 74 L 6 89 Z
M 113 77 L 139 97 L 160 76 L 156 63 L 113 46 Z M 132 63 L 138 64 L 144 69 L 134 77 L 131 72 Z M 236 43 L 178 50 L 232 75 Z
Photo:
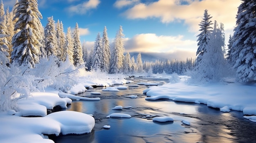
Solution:
M 28 67 L 17 66 L 16 64 L 6 66 L 0 52 L 0 111 L 10 109 L 17 110 L 17 101 L 30 95 L 30 90 L 36 90 L 33 86 L 34 75 L 27 74 Z

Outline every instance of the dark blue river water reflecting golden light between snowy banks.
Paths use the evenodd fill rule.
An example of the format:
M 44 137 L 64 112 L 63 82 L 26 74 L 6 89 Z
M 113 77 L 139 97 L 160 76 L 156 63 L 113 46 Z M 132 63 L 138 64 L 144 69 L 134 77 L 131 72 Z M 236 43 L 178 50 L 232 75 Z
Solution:
M 145 81 L 147 80 L 147 81 Z M 168 79 L 135 79 L 135 82 L 168 81 Z M 126 84 L 129 86 L 130 84 Z M 93 114 L 95 127 L 90 134 L 54 137 L 55 143 L 256 143 L 256 123 L 243 118 L 243 112 L 223 113 L 203 104 L 174 102 L 170 100 L 148 101 L 142 91 L 147 87 L 130 86 L 118 92 L 102 91 L 91 95 L 85 92 L 80 96 L 100 97 L 100 101 L 72 101 L 67 110 Z M 127 98 L 137 95 L 137 99 Z M 113 110 L 115 106 L 132 106 L 123 110 Z M 132 118 L 106 118 L 112 113 L 130 114 Z M 169 116 L 173 122 L 153 122 L 155 116 Z M 191 125 L 184 125 L 183 120 Z M 110 125 L 110 129 L 103 129 Z

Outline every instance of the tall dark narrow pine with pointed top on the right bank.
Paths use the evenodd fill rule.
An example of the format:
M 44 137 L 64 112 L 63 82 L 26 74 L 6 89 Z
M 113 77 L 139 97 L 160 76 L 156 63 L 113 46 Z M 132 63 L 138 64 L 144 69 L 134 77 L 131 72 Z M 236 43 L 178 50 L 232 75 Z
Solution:
M 198 64 L 202 58 L 202 55 L 207 52 L 207 41 L 209 41 L 209 35 L 212 32 L 212 27 L 211 27 L 211 19 L 212 17 L 208 14 L 208 10 L 204 10 L 204 18 L 198 24 L 200 26 L 201 33 L 197 35 L 198 37 L 198 50 L 196 52 L 196 55 L 198 56 L 196 59 L 196 64 Z

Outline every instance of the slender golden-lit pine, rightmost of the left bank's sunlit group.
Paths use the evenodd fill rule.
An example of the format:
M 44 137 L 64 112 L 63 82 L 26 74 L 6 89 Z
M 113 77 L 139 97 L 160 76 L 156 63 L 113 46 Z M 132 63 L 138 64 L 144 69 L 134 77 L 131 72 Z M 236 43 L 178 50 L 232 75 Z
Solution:
M 83 61 L 82 45 L 80 42 L 79 27 L 77 23 L 73 33 L 73 39 L 74 39 L 74 55 L 73 55 L 74 66 L 80 66 L 84 63 L 84 61 Z

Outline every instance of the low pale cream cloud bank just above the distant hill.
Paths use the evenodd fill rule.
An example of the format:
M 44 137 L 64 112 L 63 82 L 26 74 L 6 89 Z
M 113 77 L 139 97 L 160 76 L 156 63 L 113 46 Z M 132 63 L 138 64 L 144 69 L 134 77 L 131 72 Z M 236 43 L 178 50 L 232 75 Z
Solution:
M 195 57 L 197 42 L 179 36 L 157 36 L 154 33 L 138 34 L 125 40 L 126 52 L 155 53 L 175 59 Z

